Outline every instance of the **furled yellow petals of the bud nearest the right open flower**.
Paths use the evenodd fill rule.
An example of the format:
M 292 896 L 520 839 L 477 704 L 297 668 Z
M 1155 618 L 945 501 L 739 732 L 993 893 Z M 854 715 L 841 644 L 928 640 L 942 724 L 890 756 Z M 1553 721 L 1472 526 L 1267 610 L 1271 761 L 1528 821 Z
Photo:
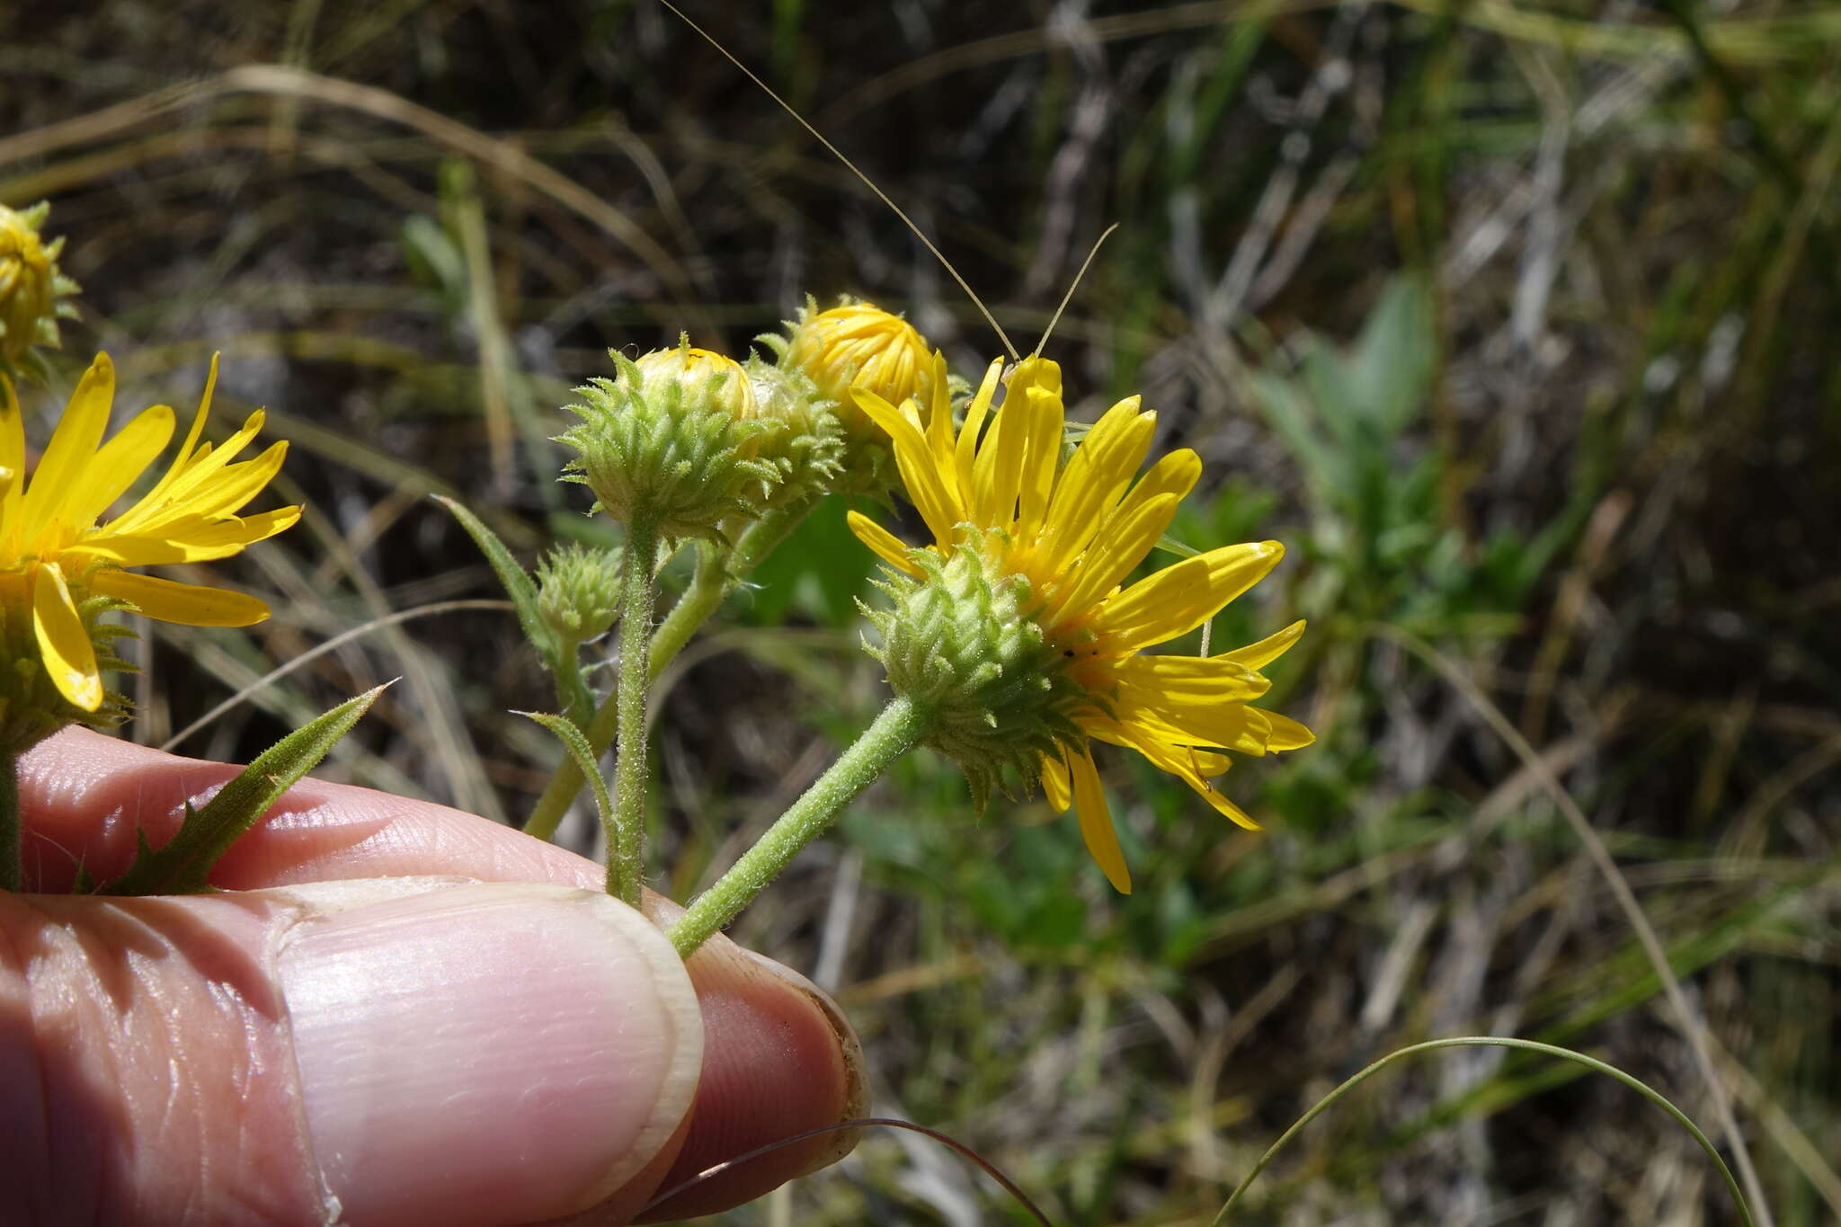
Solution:
M 838 403 L 838 419 L 852 434 L 871 427 L 851 401 L 851 388 L 900 405 L 908 397 L 926 397 L 933 375 L 932 355 L 913 324 L 869 302 L 801 313 L 784 362 Z

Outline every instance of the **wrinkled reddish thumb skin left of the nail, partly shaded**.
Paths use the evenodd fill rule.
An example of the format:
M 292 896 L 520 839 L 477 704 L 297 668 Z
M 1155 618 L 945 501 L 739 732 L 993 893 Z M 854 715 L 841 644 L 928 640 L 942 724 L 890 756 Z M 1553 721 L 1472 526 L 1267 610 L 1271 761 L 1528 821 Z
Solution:
M 271 960 L 245 953 L 265 949 L 272 920 L 232 898 L 0 912 L 22 1006 L 0 1060 L 24 1047 L 39 1071 L 39 1120 L 0 1126 L 37 1130 L 42 1146 L 41 1163 L 7 1161 L 9 1183 L 37 1181 L 29 1221 L 322 1218 Z

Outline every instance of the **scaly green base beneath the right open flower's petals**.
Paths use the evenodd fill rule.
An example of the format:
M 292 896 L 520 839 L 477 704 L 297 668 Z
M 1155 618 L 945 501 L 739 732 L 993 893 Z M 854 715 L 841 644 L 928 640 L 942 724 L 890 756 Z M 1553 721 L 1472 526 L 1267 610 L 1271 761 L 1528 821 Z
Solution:
M 924 745 L 959 763 L 983 808 L 1007 776 L 1033 789 L 1042 758 L 1083 736 L 1071 714 L 1094 699 L 1031 618 L 1029 579 L 1003 568 L 1002 535 L 961 532 L 950 556 L 908 556 L 920 578 L 887 568 L 880 587 L 893 607 L 865 613 L 889 686 L 930 712 Z

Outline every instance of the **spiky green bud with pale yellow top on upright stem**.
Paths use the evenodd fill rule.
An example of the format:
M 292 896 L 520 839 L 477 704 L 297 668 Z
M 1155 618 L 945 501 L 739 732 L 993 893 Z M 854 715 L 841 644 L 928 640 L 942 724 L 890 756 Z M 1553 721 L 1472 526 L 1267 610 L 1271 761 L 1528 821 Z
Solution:
M 755 390 L 733 359 L 681 344 L 637 362 L 609 351 L 619 375 L 576 388 L 582 421 L 558 436 L 578 454 L 563 473 L 596 508 L 665 537 L 720 541 L 718 524 L 760 510 L 777 482 L 755 460 Z

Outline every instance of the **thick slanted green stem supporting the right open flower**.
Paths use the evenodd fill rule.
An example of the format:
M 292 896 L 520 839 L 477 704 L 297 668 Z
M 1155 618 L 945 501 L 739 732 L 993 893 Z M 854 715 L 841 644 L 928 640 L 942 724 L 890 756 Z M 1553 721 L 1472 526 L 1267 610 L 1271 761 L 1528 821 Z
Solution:
M 823 835 L 858 793 L 876 782 L 926 732 L 930 714 L 897 695 L 876 723 L 851 743 L 792 809 L 775 819 L 753 848 L 700 894 L 666 936 L 689 958 L 712 933 L 735 920 L 808 843 Z

